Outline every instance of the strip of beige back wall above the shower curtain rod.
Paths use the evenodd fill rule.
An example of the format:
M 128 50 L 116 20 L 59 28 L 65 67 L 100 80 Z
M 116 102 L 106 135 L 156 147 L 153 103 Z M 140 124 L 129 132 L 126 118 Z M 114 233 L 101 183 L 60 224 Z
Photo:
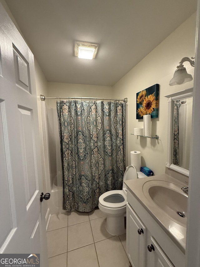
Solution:
M 45 96 L 80 96 L 80 97 L 104 97 L 113 98 L 112 86 L 101 85 L 81 85 L 81 84 L 66 84 L 48 82 L 48 93 Z M 50 107 L 56 107 L 56 100 L 45 100 Z

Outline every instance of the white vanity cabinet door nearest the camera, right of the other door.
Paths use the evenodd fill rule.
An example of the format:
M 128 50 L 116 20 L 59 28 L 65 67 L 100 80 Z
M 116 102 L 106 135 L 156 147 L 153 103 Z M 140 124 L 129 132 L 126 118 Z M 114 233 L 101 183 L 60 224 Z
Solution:
M 152 251 L 148 250 L 148 245 L 152 247 Z M 150 248 L 149 248 L 150 249 Z M 151 250 L 151 249 L 150 249 Z M 174 267 L 170 259 L 158 245 L 156 240 L 151 236 L 148 238 L 147 246 L 147 267 Z

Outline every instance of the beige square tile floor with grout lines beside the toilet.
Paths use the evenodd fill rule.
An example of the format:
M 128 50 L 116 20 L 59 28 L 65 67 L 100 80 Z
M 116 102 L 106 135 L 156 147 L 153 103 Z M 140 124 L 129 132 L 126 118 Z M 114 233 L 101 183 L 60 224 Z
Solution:
M 98 208 L 53 214 L 47 229 L 49 267 L 131 267 L 126 234 L 109 234 L 105 222 Z

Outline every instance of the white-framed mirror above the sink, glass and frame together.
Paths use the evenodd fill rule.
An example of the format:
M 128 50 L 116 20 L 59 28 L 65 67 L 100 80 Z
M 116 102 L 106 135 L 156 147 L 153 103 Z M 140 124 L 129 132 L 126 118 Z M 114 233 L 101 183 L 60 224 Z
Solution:
M 166 97 L 168 97 L 166 166 L 189 176 L 193 88 Z

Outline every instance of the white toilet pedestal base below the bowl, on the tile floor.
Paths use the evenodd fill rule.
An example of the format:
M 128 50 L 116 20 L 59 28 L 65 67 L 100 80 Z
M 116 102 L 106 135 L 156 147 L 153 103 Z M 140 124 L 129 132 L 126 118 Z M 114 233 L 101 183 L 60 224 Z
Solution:
M 109 234 L 120 235 L 126 233 L 125 217 L 122 214 L 109 214 L 106 218 L 106 230 Z

